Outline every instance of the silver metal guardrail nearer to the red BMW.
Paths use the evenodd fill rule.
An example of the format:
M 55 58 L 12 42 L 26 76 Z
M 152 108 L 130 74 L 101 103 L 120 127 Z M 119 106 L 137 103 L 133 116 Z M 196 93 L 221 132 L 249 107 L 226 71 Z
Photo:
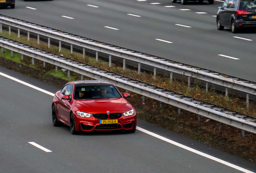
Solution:
M 117 87 L 256 134 L 256 117 L 225 109 L 211 103 L 163 89 L 122 74 L 110 72 L 65 56 L 54 54 L 9 38 L 0 36 L 0 47 L 66 68 L 67 70 L 90 78 L 108 80 L 114 83 Z

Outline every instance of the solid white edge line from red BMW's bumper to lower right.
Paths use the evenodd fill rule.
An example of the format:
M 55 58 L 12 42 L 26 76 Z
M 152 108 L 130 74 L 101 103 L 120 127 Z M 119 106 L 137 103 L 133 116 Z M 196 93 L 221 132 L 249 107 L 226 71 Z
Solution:
M 218 159 L 218 158 L 216 158 L 216 157 L 213 157 L 213 156 L 211 156 L 211 155 L 202 153 L 201 151 L 197 151 L 197 150 L 195 150 L 195 149 L 192 149 L 192 148 L 190 148 L 190 147 L 187 147 L 186 145 L 182 145 L 182 144 L 180 144 L 180 143 L 177 143 L 177 142 L 175 142 L 175 141 L 172 141 L 172 140 L 170 140 L 170 139 L 167 139 L 167 138 L 165 138 L 165 137 L 162 137 L 162 136 L 160 136 L 160 135 L 157 135 L 157 134 L 155 134 L 155 133 L 153 133 L 153 132 L 147 131 L 147 130 L 142 129 L 142 128 L 140 128 L 140 127 L 136 127 L 136 129 L 139 130 L 139 131 L 142 131 L 142 132 L 144 132 L 144 133 L 147 133 L 147 134 L 149 134 L 149 135 L 151 135 L 151 136 L 153 136 L 153 137 L 156 137 L 156 138 L 158 138 L 158 139 L 161 139 L 161 140 L 163 140 L 163 141 L 165 141 L 165 142 L 167 142 L 167 143 L 171 143 L 171 144 L 173 144 L 173 145 L 176 145 L 177 147 L 181 147 L 181 148 L 183 148 L 183 149 L 186 149 L 186 150 L 188 150 L 188 151 L 191 151 L 191 152 L 193 152 L 193 153 L 196 153 L 196 154 L 201 155 L 201 156 L 203 156 L 203 157 L 206 157 L 206 158 L 208 158 L 208 159 L 217 161 L 217 162 L 219 162 L 219 163 L 222 163 L 222 164 L 224 164 L 224 165 L 227 165 L 227 166 L 229 166 L 229 167 L 232 167 L 232 168 L 237 169 L 237 170 L 239 170 L 239 171 L 242 171 L 242 172 L 244 172 L 244 173 L 254 173 L 254 172 L 252 172 L 252 171 L 249 171 L 249 170 L 247 170 L 247 169 L 244 169 L 244 168 L 239 167 L 239 166 L 237 166 L 237 165 L 234 165 L 234 164 L 232 164 L 232 163 L 228 163 L 228 162 L 226 162 L 226 161 L 223 161 L 223 160 Z

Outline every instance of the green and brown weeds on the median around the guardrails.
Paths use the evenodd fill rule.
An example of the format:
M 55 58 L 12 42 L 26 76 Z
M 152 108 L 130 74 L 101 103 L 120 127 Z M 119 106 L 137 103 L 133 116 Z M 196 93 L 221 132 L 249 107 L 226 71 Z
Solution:
M 186 82 L 179 80 L 170 81 L 169 76 L 157 76 L 154 78 L 153 74 L 148 74 L 146 72 L 142 72 L 139 75 L 135 70 L 123 70 L 122 65 L 113 65 L 109 68 L 108 62 L 100 60 L 99 62 L 95 62 L 95 58 L 91 58 L 89 56 L 83 59 L 83 55 L 80 53 L 74 52 L 74 54 L 70 54 L 70 50 L 66 50 L 64 48 L 62 48 L 61 52 L 58 52 L 58 46 L 51 45 L 51 48 L 48 48 L 48 44 L 44 42 L 40 42 L 40 44 L 37 45 L 37 39 L 34 38 L 30 38 L 30 40 L 27 41 L 26 36 L 17 38 L 17 34 L 13 32 L 8 36 L 8 31 L 5 30 L 1 35 L 56 54 L 63 54 L 66 57 L 73 58 L 99 68 L 104 68 L 137 80 L 148 82 L 158 87 L 169 89 L 221 107 L 226 107 L 227 109 L 232 109 L 234 111 L 256 117 L 254 101 L 250 101 L 250 109 L 246 109 L 246 102 L 242 97 L 232 95 L 225 97 L 225 93 L 217 92 L 214 89 L 210 89 L 209 92 L 206 92 L 205 89 L 200 86 L 200 81 L 197 80 L 195 80 L 191 90 L 188 90 Z M 11 57 L 10 51 L 6 49 L 4 49 L 4 53 L 0 53 L 0 57 L 1 66 L 23 72 L 26 75 L 38 78 L 59 88 L 67 81 L 81 80 L 80 74 L 70 72 L 70 78 L 68 78 L 67 71 L 64 72 L 63 70 L 58 69 L 56 72 L 55 66 L 52 64 L 46 64 L 46 66 L 43 67 L 43 62 L 39 60 L 35 60 L 35 64 L 32 65 L 31 58 L 28 56 L 23 56 L 23 61 L 21 61 L 21 55 L 19 53 L 14 52 Z M 90 78 L 86 78 L 84 76 L 84 79 Z M 120 90 L 122 91 L 122 89 Z M 246 132 L 246 137 L 242 138 L 240 129 L 224 124 L 222 125 L 222 130 L 219 131 L 219 126 L 216 121 L 201 117 L 200 123 L 198 123 L 198 117 L 193 113 L 182 110 L 179 114 L 178 109 L 171 105 L 162 104 L 160 107 L 158 101 L 147 97 L 145 98 L 145 103 L 142 103 L 141 95 L 132 92 L 130 92 L 130 95 L 131 97 L 128 101 L 136 108 L 137 117 L 139 119 L 170 129 L 198 141 L 207 143 L 213 147 L 217 147 L 229 153 L 256 162 L 255 134 Z

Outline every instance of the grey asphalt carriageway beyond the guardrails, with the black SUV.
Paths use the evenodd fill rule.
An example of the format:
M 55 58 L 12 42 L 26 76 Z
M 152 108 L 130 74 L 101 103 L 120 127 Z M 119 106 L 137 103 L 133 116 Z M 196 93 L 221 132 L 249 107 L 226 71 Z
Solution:
M 151 4 L 153 2 L 17 1 L 15 10 L 4 9 L 0 13 L 255 81 L 256 34 L 232 34 L 229 29 L 218 31 L 214 15 L 221 2 L 215 1 L 213 5 L 207 2 L 181 5 L 179 1 L 171 3 L 167 0 L 158 0 L 161 4 Z M 166 7 L 171 5 L 174 7 Z

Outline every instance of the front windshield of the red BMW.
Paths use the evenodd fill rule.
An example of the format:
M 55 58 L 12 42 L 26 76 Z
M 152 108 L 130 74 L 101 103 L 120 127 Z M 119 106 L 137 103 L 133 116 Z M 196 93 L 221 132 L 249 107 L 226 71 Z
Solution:
M 75 88 L 74 99 L 121 98 L 113 85 L 88 85 Z

